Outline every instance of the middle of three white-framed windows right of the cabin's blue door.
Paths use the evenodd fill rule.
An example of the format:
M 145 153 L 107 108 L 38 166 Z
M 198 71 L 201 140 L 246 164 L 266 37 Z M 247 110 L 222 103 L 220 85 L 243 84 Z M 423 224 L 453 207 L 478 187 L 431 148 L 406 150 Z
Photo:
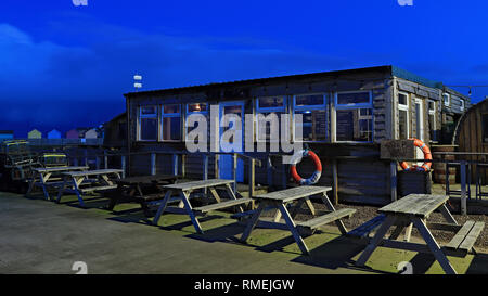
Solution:
M 294 140 L 325 141 L 328 133 L 328 116 L 324 94 L 305 94 L 294 98 Z M 301 125 L 295 115 L 301 114 Z M 295 131 L 301 128 L 301 139 L 295 137 Z

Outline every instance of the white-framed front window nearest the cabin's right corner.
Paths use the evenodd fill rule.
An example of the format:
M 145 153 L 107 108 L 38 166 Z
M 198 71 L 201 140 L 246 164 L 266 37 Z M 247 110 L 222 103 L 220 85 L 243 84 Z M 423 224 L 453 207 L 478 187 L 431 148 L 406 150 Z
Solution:
M 338 92 L 335 95 L 336 141 L 373 141 L 371 91 Z

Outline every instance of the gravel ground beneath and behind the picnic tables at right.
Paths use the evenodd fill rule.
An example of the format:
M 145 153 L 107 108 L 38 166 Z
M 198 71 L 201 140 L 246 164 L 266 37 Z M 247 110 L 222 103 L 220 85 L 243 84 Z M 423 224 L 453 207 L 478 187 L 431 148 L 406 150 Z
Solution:
M 325 210 L 325 206 L 323 204 L 313 203 L 313 205 L 316 206 L 316 209 L 319 210 L 318 215 L 320 215 L 320 211 Z M 376 210 L 380 207 L 339 204 L 336 206 L 336 209 L 339 209 L 339 208 L 355 208 L 357 210 L 349 219 L 343 220 L 344 224 L 347 227 L 347 229 L 352 230 L 352 229 L 359 227 L 360 224 L 364 223 L 365 221 L 371 220 L 374 217 L 376 217 L 378 215 Z M 476 240 L 475 245 L 480 246 L 483 248 L 488 248 L 488 216 L 486 216 L 486 215 L 468 215 L 468 216 L 452 215 L 452 216 L 460 224 L 463 224 L 467 220 L 484 221 L 486 224 L 485 229 L 483 230 L 481 234 L 478 236 L 478 240 Z M 306 206 L 304 205 L 301 207 L 301 210 L 297 215 L 296 219 L 297 220 L 307 220 L 307 219 L 310 219 L 311 217 L 312 216 L 309 215 L 308 208 L 306 208 Z M 444 219 L 444 217 L 440 213 L 433 213 L 431 215 L 428 221 L 429 222 L 444 222 L 444 223 L 446 222 L 446 220 Z M 391 232 L 393 229 L 394 228 L 391 228 L 389 232 Z M 433 230 L 432 233 L 433 233 L 434 237 L 436 237 L 436 240 L 441 243 L 447 243 L 454 236 L 454 233 L 449 232 L 449 231 Z M 419 231 L 415 228 L 412 229 L 412 235 L 421 237 Z

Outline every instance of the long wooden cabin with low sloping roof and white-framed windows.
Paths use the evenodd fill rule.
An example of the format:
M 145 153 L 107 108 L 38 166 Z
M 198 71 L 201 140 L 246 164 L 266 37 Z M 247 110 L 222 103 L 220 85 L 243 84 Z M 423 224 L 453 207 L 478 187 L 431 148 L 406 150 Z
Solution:
M 446 93 L 448 104 L 444 102 Z M 394 198 L 390 164 L 380 159 L 382 141 L 418 138 L 425 143 L 441 143 L 445 126 L 462 113 L 458 105 L 470 105 L 467 96 L 395 66 L 140 91 L 125 96 L 130 152 L 185 151 L 185 118 L 191 114 L 208 118 L 211 106 L 218 110 L 217 118 L 229 113 L 241 118 L 245 114 L 288 114 L 292 141 L 299 140 L 294 139 L 295 116 L 301 114 L 304 143 L 324 165 L 319 184 L 336 182 L 339 200 L 369 204 L 387 204 Z M 255 146 L 272 136 L 266 124 L 259 126 L 256 121 L 251 131 Z M 210 169 L 209 178 L 216 173 L 230 177 L 232 159 L 227 156 L 209 158 L 209 167 L 219 168 Z M 253 157 L 267 164 L 266 153 L 254 153 Z M 241 160 L 236 179 L 246 183 L 249 167 Z M 202 162 L 201 155 L 188 155 L 185 173 L 201 178 Z M 171 169 L 166 157 L 156 164 L 157 171 Z M 147 170 L 140 169 L 150 166 L 150 159 L 136 155 L 129 165 L 131 173 L 144 173 Z M 303 176 L 311 175 L 313 169 L 307 160 L 298 166 Z M 256 183 L 274 185 L 283 183 L 283 179 L 290 182 L 287 171 L 287 166 L 277 162 L 256 168 Z

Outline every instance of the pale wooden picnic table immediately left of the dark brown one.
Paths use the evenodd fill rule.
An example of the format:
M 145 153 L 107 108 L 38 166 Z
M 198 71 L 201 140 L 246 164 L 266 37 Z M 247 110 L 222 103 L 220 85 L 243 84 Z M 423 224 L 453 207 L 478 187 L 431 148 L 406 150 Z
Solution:
M 75 193 L 80 206 L 85 206 L 82 194 L 94 191 L 106 191 L 117 188 L 110 177 L 120 179 L 121 169 L 95 169 L 86 171 L 65 171 L 63 183 L 57 192 L 56 203 L 64 193 Z M 89 179 L 89 177 L 91 177 Z

